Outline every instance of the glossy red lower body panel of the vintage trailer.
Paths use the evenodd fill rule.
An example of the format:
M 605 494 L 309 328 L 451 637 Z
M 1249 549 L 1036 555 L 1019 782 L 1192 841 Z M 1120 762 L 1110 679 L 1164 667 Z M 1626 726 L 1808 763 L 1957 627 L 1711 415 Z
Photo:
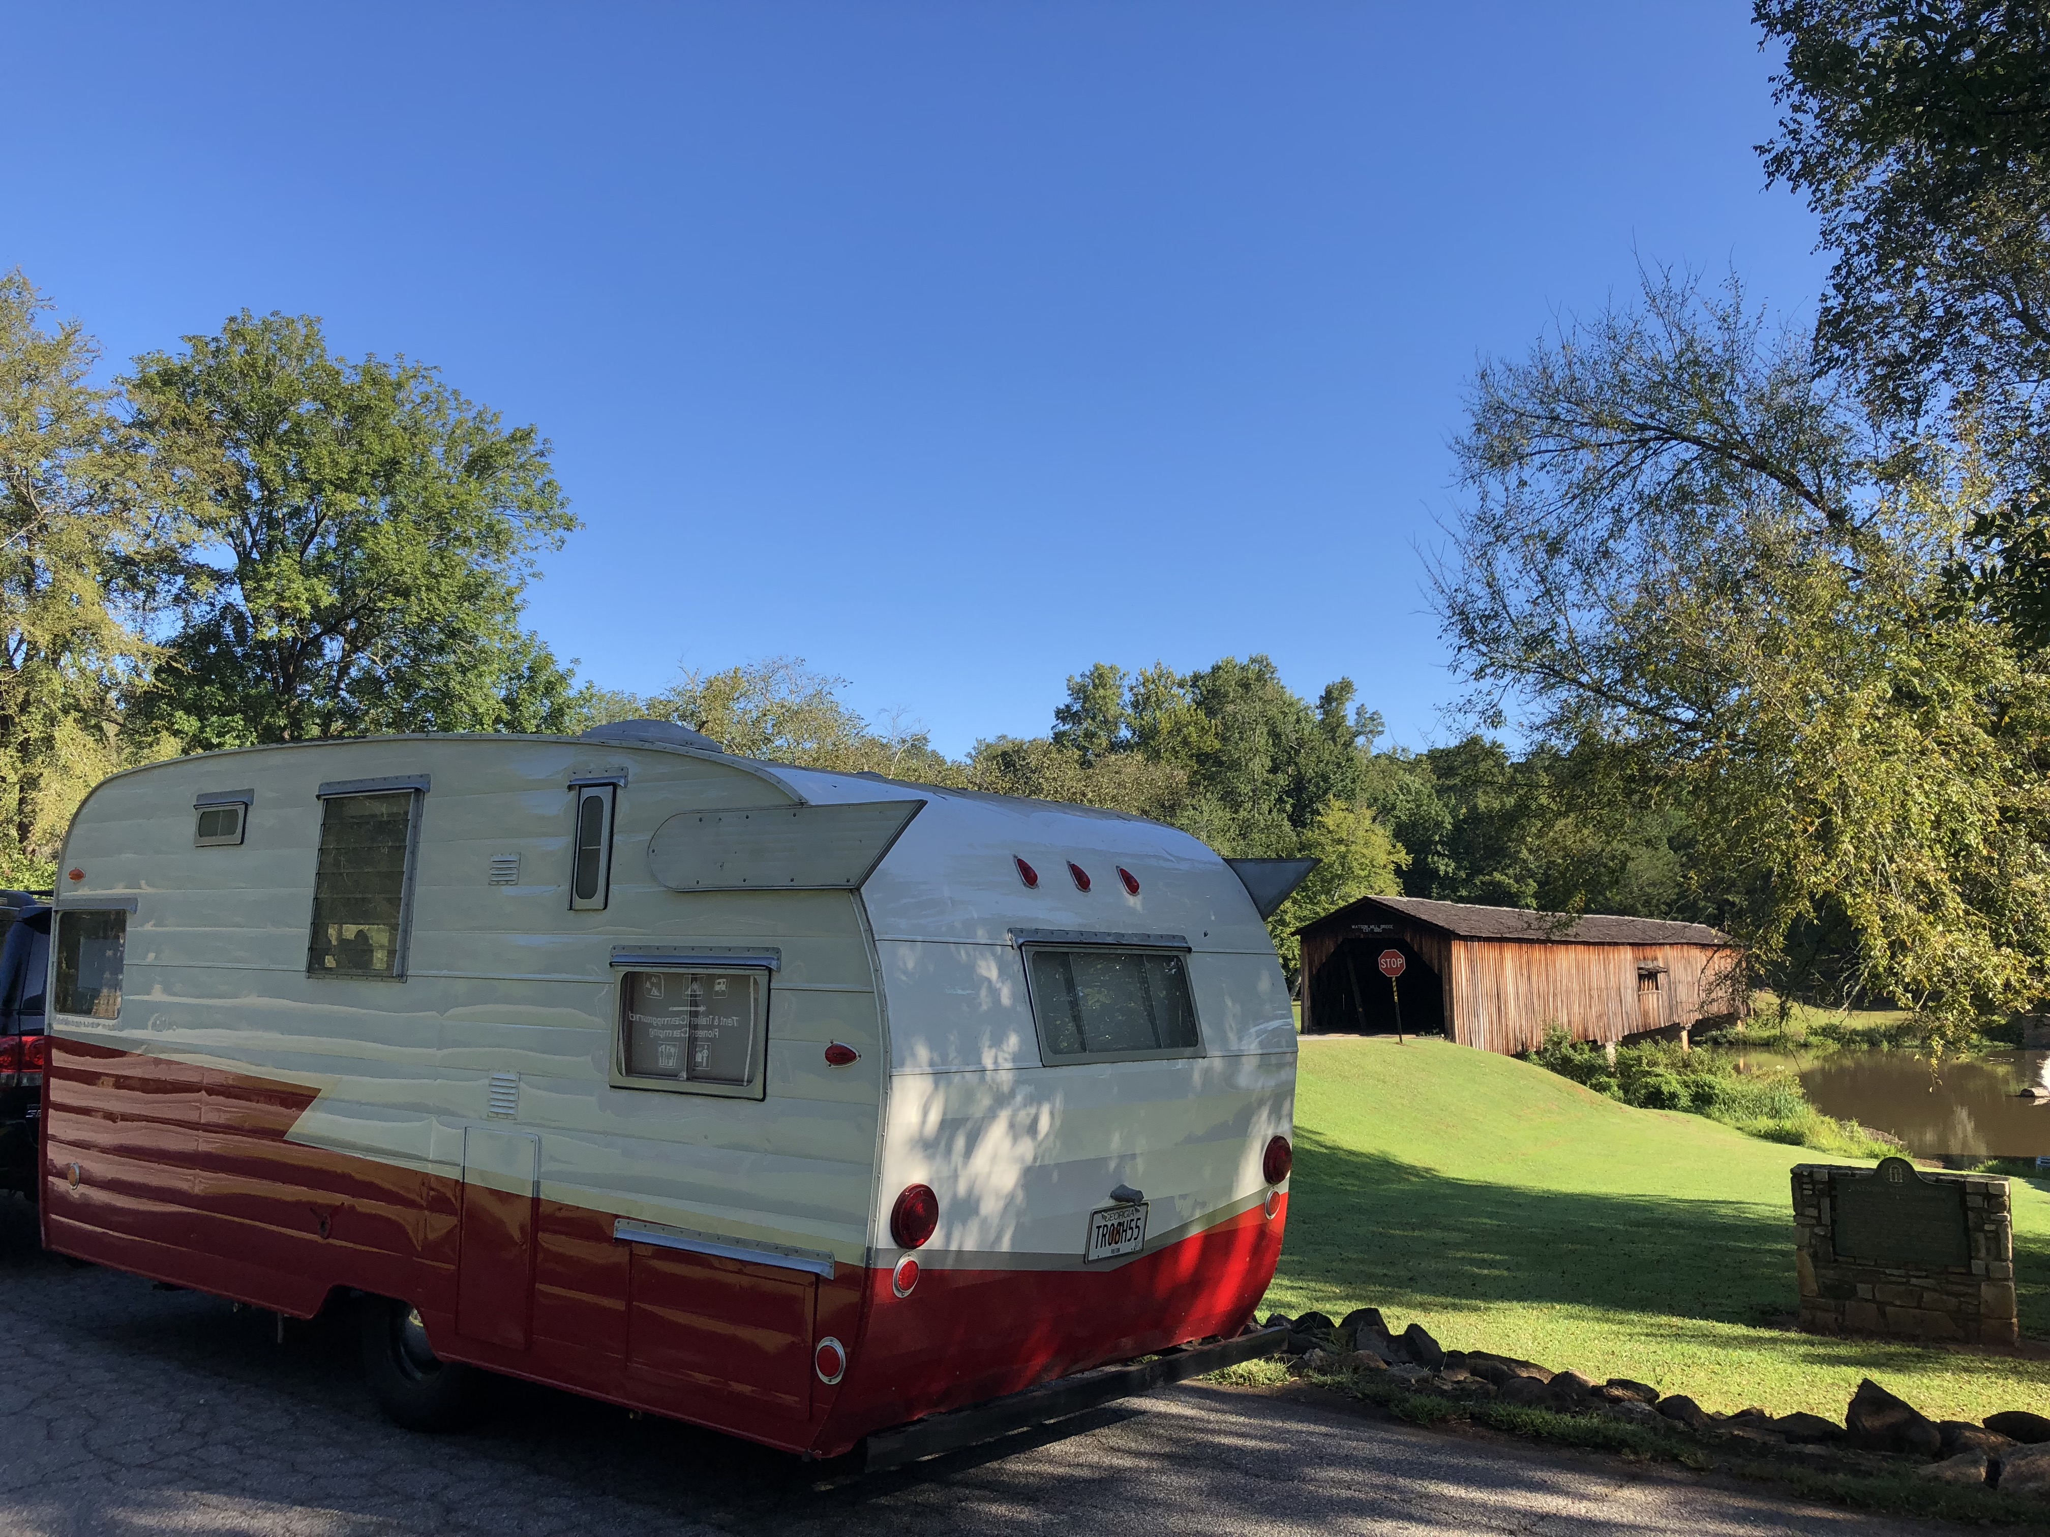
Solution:
M 51 1043 L 43 1240 L 310 1318 L 338 1289 L 420 1307 L 451 1361 L 836 1455 L 863 1435 L 1105 1361 L 1236 1334 L 1285 1199 L 1115 1269 L 820 1277 L 613 1238 L 613 1215 L 287 1139 L 314 1090 Z M 531 1127 L 480 1127 L 519 1168 Z M 847 1355 L 828 1385 L 816 1342 Z

